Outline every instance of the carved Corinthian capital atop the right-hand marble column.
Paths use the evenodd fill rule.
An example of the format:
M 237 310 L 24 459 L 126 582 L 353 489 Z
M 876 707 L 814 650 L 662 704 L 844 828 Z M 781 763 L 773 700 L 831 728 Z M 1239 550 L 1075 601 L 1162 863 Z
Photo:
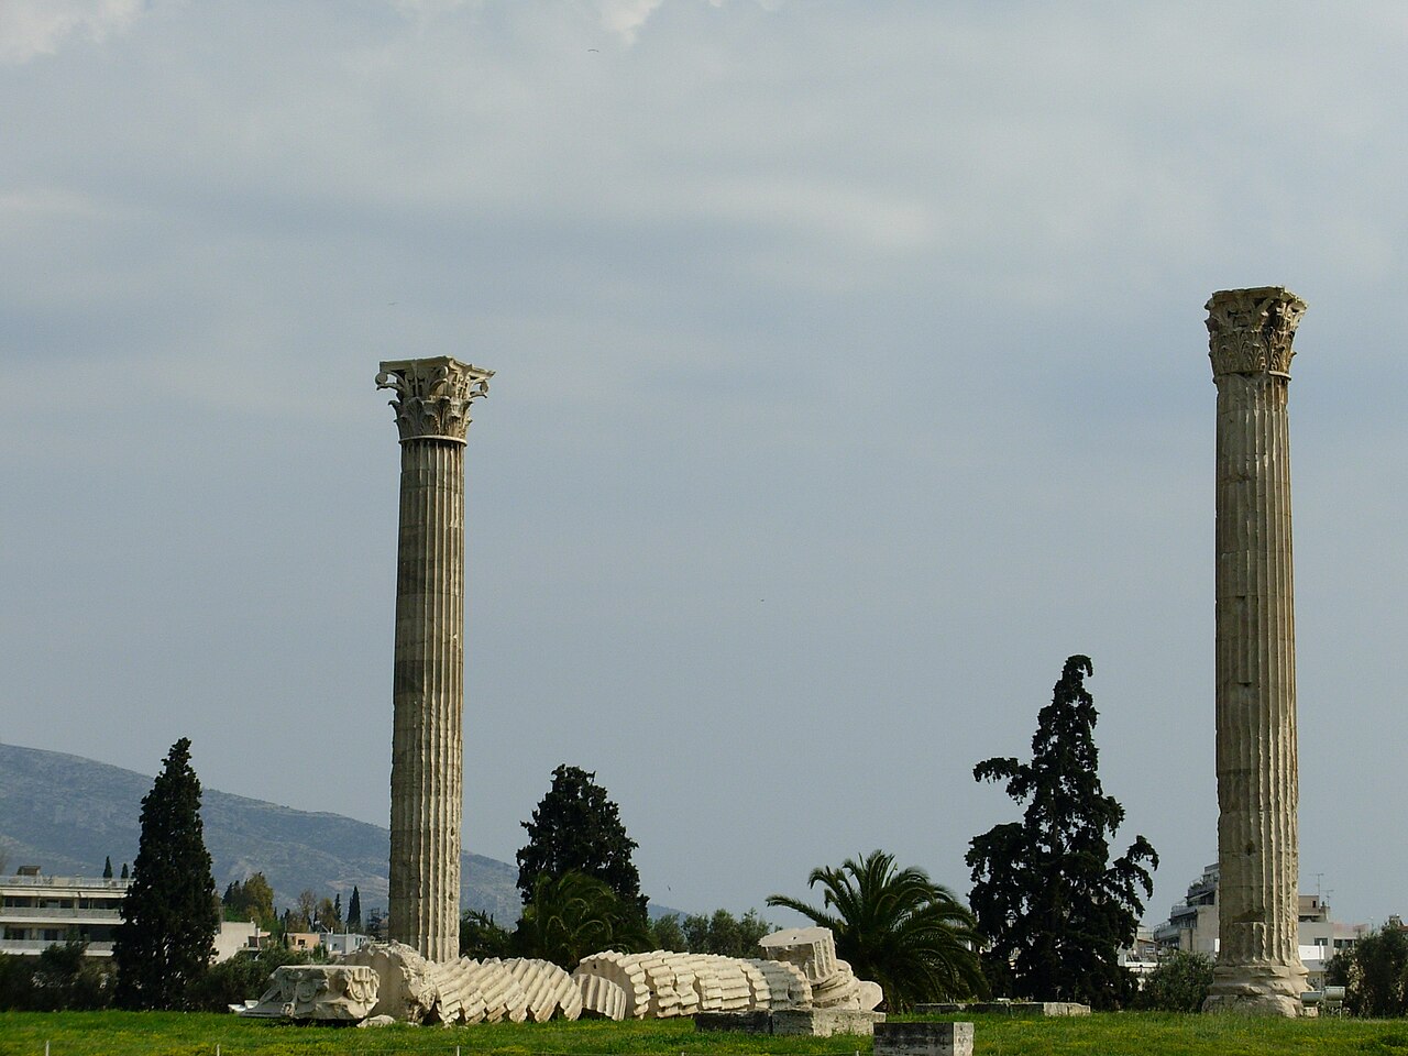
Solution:
M 1208 300 L 1208 356 L 1212 376 L 1291 376 L 1295 328 L 1305 301 L 1283 286 L 1218 290 Z

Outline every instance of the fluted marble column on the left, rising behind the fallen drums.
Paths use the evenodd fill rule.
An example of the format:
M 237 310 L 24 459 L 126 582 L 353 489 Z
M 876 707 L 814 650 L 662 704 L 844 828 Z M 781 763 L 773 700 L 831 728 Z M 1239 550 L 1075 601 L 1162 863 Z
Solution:
M 459 956 L 465 708 L 465 429 L 491 370 L 449 356 L 382 363 L 401 434 L 391 676 L 389 934 Z

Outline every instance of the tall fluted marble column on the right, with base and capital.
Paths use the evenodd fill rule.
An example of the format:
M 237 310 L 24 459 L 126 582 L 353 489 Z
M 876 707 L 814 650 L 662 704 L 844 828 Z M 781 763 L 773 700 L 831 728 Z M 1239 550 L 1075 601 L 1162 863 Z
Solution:
M 1291 342 L 1278 286 L 1207 304 L 1217 428 L 1218 936 L 1204 1011 L 1297 1015 L 1298 767 L 1291 610 Z

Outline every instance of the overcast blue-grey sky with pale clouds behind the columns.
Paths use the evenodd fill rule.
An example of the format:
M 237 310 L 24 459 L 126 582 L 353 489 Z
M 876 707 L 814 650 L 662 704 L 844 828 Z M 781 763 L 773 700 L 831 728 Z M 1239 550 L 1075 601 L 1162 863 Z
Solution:
M 1301 887 L 1408 912 L 1408 8 L 0 0 L 0 739 L 384 825 L 380 359 L 497 372 L 465 842 L 967 893 L 1088 653 L 1146 919 L 1217 860 L 1202 310 L 1287 286 Z

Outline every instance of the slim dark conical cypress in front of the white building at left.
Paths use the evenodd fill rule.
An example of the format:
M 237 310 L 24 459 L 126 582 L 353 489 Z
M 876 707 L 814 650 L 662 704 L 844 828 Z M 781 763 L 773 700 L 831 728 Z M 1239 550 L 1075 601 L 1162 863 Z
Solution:
M 206 973 L 220 928 L 200 821 L 200 780 L 190 767 L 186 738 L 172 745 L 142 797 L 134 872 L 113 948 L 117 1004 L 184 1008 L 187 990 Z

